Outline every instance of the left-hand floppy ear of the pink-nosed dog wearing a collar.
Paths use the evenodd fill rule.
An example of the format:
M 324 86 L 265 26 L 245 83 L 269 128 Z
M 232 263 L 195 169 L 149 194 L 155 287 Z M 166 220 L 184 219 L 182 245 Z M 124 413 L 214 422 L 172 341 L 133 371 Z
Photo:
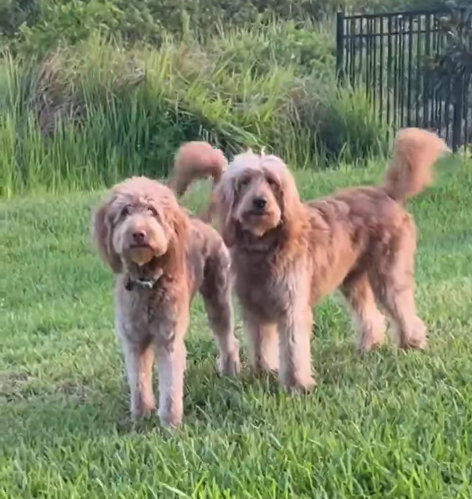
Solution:
M 107 199 L 94 211 L 92 216 L 92 240 L 102 260 L 110 265 L 115 273 L 120 273 L 122 263 L 119 255 L 113 250 L 113 230 L 109 222 L 112 199 Z

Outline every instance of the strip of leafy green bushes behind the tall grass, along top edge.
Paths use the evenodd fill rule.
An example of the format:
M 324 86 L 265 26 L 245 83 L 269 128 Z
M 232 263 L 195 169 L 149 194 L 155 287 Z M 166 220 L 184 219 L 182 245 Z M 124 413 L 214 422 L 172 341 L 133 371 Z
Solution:
M 469 0 L 460 0 L 466 4 Z M 1 0 L 0 33 L 10 48 L 45 52 L 100 31 L 159 45 L 166 34 L 208 38 L 222 27 L 274 19 L 304 24 L 336 10 L 388 11 L 446 5 L 447 0 Z

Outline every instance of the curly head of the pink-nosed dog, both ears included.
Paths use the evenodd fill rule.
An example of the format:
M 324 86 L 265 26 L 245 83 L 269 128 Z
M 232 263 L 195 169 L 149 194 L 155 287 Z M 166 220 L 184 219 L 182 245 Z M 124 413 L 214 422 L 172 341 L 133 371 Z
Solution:
M 172 191 L 145 177 L 114 186 L 93 214 L 92 234 L 114 272 L 184 247 L 187 218 Z

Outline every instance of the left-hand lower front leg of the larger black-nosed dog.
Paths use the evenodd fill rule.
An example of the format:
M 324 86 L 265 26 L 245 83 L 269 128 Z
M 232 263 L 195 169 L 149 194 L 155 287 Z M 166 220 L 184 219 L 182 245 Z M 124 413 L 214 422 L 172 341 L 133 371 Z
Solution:
M 262 323 L 244 318 L 244 334 L 249 344 L 252 369 L 256 374 L 277 372 L 279 368 L 279 337 L 276 323 Z

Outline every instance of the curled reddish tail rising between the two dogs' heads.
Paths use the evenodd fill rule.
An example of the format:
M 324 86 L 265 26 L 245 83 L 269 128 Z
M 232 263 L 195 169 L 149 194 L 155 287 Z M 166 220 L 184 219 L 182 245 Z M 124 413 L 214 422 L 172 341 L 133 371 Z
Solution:
M 192 182 L 212 177 L 212 197 L 207 212 L 200 218 L 210 222 L 214 211 L 213 189 L 220 182 L 228 160 L 220 149 L 208 142 L 187 142 L 180 146 L 175 156 L 174 169 L 169 180 L 169 187 L 181 198 Z

